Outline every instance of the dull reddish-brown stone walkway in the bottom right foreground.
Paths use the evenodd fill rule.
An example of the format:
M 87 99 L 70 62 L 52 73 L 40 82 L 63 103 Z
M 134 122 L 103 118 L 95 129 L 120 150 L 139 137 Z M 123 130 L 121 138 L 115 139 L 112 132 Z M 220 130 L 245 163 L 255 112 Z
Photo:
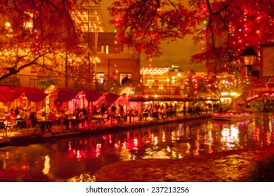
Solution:
M 188 157 L 134 160 L 102 167 L 97 182 L 238 182 L 274 181 L 274 146 Z M 259 163 L 266 167 L 258 168 Z

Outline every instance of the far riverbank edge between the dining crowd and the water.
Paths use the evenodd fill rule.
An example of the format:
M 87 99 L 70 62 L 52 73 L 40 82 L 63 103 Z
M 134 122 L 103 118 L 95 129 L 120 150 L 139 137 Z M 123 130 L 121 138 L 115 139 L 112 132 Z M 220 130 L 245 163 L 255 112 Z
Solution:
M 47 141 L 56 141 L 58 139 L 67 139 L 71 137 L 82 137 L 93 134 L 105 134 L 108 132 L 121 132 L 125 130 L 138 129 L 140 127 L 148 127 L 153 125 L 164 125 L 167 123 L 183 122 L 185 120 L 200 120 L 211 118 L 210 114 L 202 114 L 197 116 L 178 116 L 173 118 L 164 118 L 160 120 L 154 120 L 149 118 L 148 120 L 138 121 L 137 118 L 129 120 L 123 123 L 113 123 L 105 121 L 93 125 L 79 125 L 78 128 L 70 128 L 70 130 L 64 130 L 63 127 L 54 127 L 51 132 L 34 132 L 34 129 L 22 129 L 22 130 L 10 130 L 8 137 L 4 137 L 6 130 L 1 130 L 0 147 L 4 146 L 25 146 L 27 144 L 39 144 Z

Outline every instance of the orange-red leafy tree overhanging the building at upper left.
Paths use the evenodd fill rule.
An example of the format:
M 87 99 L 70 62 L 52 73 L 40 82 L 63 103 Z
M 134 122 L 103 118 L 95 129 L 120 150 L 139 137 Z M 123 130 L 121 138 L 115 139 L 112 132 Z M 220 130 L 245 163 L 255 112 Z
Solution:
M 94 2 L 100 0 L 1 0 L 0 80 L 30 66 L 65 75 L 64 62 L 89 51 L 73 11 Z

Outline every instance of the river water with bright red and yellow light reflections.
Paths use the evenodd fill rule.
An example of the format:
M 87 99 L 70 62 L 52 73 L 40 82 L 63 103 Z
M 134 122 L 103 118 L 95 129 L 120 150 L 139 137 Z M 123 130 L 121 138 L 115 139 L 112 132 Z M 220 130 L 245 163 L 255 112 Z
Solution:
M 0 181 L 93 181 L 103 165 L 181 159 L 274 143 L 274 114 L 237 121 L 192 120 L 138 130 L 0 148 Z

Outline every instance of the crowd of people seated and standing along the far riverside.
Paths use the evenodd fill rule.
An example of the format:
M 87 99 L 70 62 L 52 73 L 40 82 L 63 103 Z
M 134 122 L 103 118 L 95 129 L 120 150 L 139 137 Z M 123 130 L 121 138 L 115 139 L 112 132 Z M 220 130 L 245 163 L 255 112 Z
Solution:
M 91 116 L 87 112 L 86 108 L 76 108 L 73 112 L 69 111 L 66 107 L 62 110 L 52 109 L 48 113 L 45 109 L 35 110 L 34 107 L 28 109 L 22 108 L 21 106 L 10 109 L 5 113 L 4 109 L 0 111 L 0 127 L 5 126 L 15 127 L 18 129 L 32 127 L 34 130 L 40 129 L 41 131 L 51 131 L 53 125 L 60 125 L 65 127 L 65 130 L 70 128 L 78 127 L 79 123 L 89 122 L 93 120 L 94 116 L 98 115 L 99 120 L 105 123 L 105 120 L 117 120 L 117 123 L 122 123 L 129 120 L 142 121 L 148 120 L 159 120 L 163 118 L 171 118 L 176 116 L 195 115 L 202 113 L 210 113 L 218 109 L 217 104 L 207 105 L 189 105 L 185 102 L 150 102 L 143 103 L 138 108 L 127 107 L 122 104 L 112 104 L 112 106 L 105 106 L 102 104 L 100 108 L 93 106 L 91 109 Z M 6 124 L 8 123 L 8 124 Z M 39 125 L 39 126 L 38 126 Z

